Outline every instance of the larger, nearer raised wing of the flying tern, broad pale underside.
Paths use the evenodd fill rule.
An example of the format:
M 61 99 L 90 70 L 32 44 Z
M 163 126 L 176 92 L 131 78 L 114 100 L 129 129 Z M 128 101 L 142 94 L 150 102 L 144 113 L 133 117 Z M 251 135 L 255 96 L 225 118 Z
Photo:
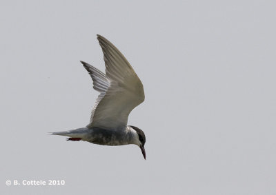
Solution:
M 127 125 L 130 112 L 144 101 L 144 88 L 123 54 L 110 41 L 97 36 L 103 50 L 106 79 L 110 86 L 107 90 L 107 85 L 101 85 L 99 88 L 103 91 L 95 103 L 97 107 L 92 111 L 91 121 L 87 127 L 117 130 Z M 93 83 L 97 83 L 96 80 L 93 79 Z

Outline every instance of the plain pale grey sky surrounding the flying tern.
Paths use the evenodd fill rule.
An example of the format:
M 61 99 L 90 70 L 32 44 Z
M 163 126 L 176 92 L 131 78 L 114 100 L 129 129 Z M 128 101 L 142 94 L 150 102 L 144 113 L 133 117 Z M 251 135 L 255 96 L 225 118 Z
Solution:
M 1 194 L 276 194 L 274 1 L 1 1 Z M 66 141 L 98 92 L 101 34 L 146 101 L 139 147 Z M 65 180 L 6 186 L 6 180 Z

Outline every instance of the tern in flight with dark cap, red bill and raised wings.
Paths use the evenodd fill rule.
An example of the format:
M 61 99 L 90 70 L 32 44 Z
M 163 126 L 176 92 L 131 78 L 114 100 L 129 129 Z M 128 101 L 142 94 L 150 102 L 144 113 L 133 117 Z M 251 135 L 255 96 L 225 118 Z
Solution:
M 81 61 L 100 94 L 92 107 L 86 127 L 54 135 L 68 136 L 70 141 L 88 141 L 99 145 L 135 144 L 146 159 L 146 136 L 138 127 L 127 125 L 130 112 L 145 99 L 144 87 L 123 54 L 101 35 L 97 35 L 103 50 L 106 74 Z

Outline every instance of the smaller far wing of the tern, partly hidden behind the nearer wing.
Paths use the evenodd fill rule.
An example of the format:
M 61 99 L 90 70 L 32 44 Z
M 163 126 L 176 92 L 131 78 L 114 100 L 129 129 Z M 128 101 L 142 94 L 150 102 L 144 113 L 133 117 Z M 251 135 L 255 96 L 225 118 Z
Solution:
M 106 94 L 106 91 L 110 87 L 110 83 L 109 83 L 108 79 L 106 79 L 106 74 L 103 74 L 103 72 L 101 72 L 97 68 L 93 67 L 92 65 L 90 65 L 84 61 L 81 61 L 81 63 L 83 64 L 83 67 L 86 68 L 86 70 L 88 71 L 88 73 L 90 74 L 90 76 L 92 78 L 93 88 L 95 90 L 97 90 L 98 92 L 100 92 L 95 104 L 92 107 L 92 112 L 91 112 L 91 116 L 90 116 L 90 123 L 92 123 L 92 119 L 93 119 L 96 107 L 99 104 L 99 102 L 101 101 L 101 99 L 103 99 L 103 96 Z

